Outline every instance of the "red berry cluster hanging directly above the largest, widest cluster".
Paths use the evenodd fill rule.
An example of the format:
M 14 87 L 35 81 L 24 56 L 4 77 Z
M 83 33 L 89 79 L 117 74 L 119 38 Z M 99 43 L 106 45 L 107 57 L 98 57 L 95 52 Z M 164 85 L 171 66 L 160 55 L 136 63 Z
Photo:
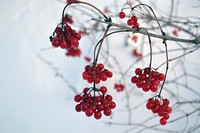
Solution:
M 94 79 L 96 79 L 96 84 L 100 83 L 100 81 L 106 81 L 107 78 L 111 78 L 112 76 L 113 73 L 105 69 L 102 63 L 99 63 L 96 66 L 94 64 L 86 65 L 85 71 L 82 73 L 82 77 L 84 80 L 87 80 L 88 83 L 93 83 Z

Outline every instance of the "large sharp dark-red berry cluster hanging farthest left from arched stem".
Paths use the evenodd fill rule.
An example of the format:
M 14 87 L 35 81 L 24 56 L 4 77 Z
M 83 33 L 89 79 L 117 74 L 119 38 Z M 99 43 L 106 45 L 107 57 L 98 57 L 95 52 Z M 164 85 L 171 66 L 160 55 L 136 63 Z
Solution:
M 68 24 L 63 27 L 57 27 L 54 36 L 50 37 L 53 47 L 60 47 L 62 49 L 78 48 L 81 35 L 73 30 Z

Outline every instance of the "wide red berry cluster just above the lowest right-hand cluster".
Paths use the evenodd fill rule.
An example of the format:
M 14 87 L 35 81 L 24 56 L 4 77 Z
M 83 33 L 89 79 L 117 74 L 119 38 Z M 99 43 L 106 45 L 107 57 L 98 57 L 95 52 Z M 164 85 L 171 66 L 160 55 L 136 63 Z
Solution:
M 156 92 L 160 81 L 165 79 L 164 74 L 151 70 L 150 68 L 136 68 L 135 74 L 136 76 L 131 78 L 131 82 L 136 84 L 138 88 L 142 88 L 145 92 L 148 92 L 149 90 Z

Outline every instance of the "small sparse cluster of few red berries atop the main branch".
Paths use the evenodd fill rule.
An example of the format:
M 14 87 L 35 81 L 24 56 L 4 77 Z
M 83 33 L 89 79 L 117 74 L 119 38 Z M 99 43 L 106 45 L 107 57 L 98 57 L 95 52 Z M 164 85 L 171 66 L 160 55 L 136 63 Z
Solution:
M 123 11 L 121 11 L 118 14 L 118 16 L 119 16 L 119 18 L 123 19 L 126 17 L 126 14 Z M 138 28 L 139 24 L 137 21 L 138 21 L 138 18 L 135 15 L 133 15 L 127 20 L 127 24 L 128 24 L 128 26 L 133 26 L 134 28 Z

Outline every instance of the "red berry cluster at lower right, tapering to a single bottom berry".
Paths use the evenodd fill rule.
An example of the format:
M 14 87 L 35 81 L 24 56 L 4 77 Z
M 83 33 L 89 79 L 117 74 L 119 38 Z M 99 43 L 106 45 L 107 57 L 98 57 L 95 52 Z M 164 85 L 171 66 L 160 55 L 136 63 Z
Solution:
M 161 99 L 159 97 L 149 98 L 146 104 L 146 108 L 162 117 L 160 118 L 160 124 L 165 125 L 169 119 L 169 114 L 172 112 L 169 103 L 170 101 L 168 99 Z

